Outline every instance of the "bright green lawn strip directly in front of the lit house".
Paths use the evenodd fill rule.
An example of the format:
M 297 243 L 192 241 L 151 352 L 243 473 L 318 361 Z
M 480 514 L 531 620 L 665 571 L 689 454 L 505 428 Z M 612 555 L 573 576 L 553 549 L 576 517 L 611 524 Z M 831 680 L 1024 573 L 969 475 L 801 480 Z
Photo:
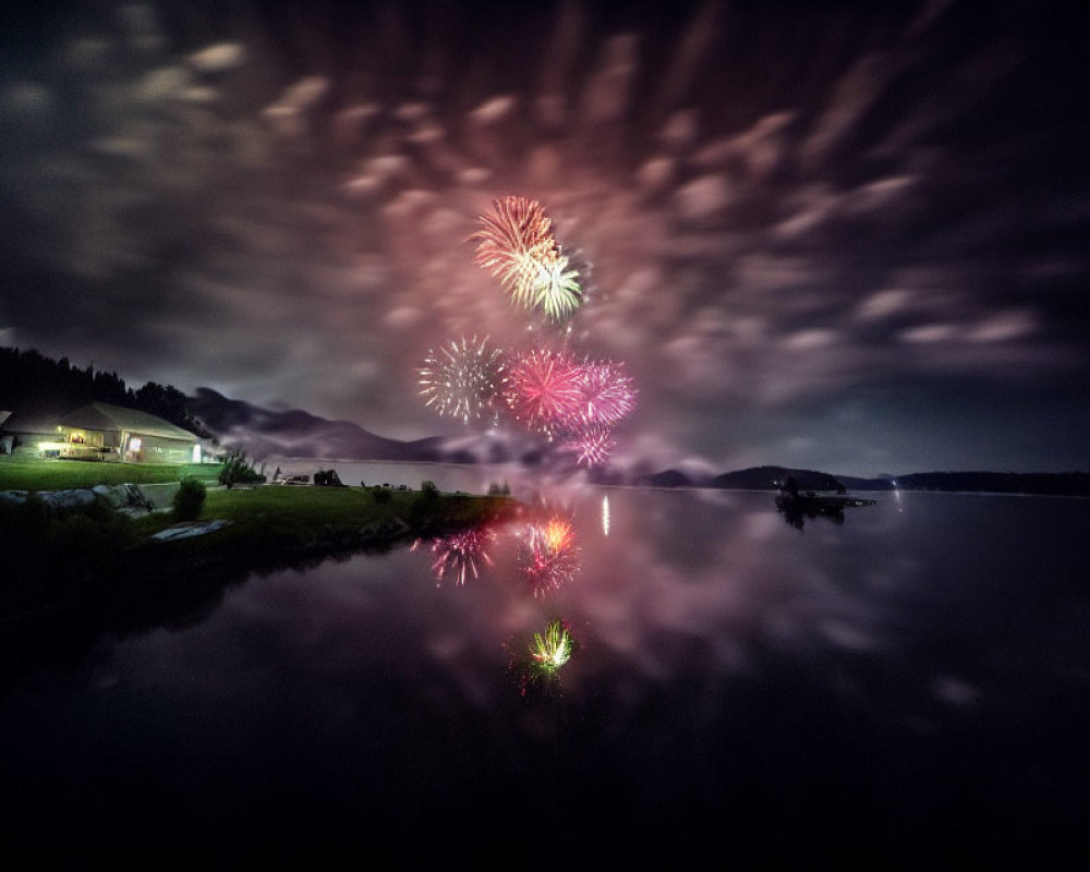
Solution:
M 0 491 L 64 491 L 96 484 L 154 484 L 193 475 L 215 482 L 218 463 L 105 463 L 0 456 Z

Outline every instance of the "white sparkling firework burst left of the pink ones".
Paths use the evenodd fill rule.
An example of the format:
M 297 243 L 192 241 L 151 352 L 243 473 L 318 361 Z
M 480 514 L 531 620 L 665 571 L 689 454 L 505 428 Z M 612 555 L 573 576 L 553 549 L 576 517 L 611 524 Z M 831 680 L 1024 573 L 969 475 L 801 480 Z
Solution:
M 507 364 L 499 349 L 488 350 L 487 338 L 477 341 L 462 337 L 461 342 L 443 346 L 439 353 L 429 351 L 420 374 L 420 393 L 425 405 L 440 415 L 451 415 L 469 423 L 471 417 L 497 415 L 506 382 Z

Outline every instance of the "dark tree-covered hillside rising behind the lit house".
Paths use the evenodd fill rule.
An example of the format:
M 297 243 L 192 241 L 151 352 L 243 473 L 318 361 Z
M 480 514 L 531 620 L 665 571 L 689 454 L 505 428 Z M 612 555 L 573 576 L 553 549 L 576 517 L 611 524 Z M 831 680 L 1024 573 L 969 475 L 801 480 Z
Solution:
M 68 358 L 52 360 L 31 349 L 0 348 L 0 410 L 25 416 L 59 415 L 89 402 L 109 402 L 158 415 L 203 438 L 214 438 L 189 408 L 182 391 L 148 382 L 126 387 L 117 373 L 81 370 Z

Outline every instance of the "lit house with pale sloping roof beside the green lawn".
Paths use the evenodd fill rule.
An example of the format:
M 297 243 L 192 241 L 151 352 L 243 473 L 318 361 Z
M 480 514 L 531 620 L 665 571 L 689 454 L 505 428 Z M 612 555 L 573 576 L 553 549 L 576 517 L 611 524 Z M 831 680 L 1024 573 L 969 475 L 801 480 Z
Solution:
M 136 463 L 199 463 L 201 440 L 136 409 L 93 402 L 61 415 L 53 437 L 60 457 Z

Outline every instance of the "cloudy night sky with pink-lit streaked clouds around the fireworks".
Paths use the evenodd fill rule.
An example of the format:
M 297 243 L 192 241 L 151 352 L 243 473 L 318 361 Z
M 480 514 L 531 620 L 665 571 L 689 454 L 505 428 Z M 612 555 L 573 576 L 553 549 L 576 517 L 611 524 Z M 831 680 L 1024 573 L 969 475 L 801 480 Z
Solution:
M 459 436 L 432 348 L 540 201 L 617 461 L 1090 469 L 1086 12 L 1050 2 L 82 2 L 3 15 L 0 346 Z

